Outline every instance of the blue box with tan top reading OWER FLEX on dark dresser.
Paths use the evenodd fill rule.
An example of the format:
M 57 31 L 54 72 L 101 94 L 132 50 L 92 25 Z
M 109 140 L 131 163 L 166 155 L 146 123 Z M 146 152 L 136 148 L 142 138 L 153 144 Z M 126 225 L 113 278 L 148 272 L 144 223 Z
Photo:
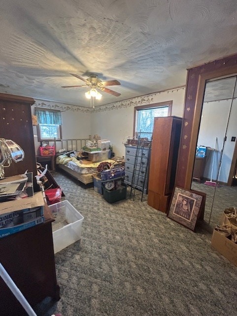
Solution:
M 33 197 L 1 202 L 0 238 L 43 223 L 43 206 L 41 192 L 35 193 Z

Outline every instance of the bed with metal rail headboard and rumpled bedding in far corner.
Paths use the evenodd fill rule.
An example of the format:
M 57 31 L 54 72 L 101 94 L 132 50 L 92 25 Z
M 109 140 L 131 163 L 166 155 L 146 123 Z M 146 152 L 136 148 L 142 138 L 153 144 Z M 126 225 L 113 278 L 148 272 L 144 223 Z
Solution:
M 101 161 L 90 163 L 90 161 L 76 158 L 76 153 L 82 150 L 86 141 L 86 139 L 67 139 L 55 143 L 57 167 L 85 185 L 93 183 L 93 176 L 97 174 L 97 167 L 101 163 Z M 112 159 L 106 159 L 105 161 L 115 162 Z

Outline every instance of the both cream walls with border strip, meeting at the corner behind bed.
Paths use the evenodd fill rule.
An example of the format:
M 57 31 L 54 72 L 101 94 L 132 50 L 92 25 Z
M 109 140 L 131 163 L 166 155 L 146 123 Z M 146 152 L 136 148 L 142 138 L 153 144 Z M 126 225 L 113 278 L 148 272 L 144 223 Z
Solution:
M 98 134 L 102 139 L 109 139 L 116 156 L 125 156 L 123 141 L 127 136 L 133 136 L 134 107 L 137 105 L 153 104 L 172 100 L 172 116 L 183 116 L 185 88 L 169 90 L 116 102 L 107 106 L 91 109 L 55 104 L 53 102 L 36 100 L 32 107 L 44 107 L 62 111 L 62 134 L 67 138 L 88 138 Z M 36 135 L 34 126 L 34 135 Z M 39 142 L 34 137 L 35 152 L 38 154 Z

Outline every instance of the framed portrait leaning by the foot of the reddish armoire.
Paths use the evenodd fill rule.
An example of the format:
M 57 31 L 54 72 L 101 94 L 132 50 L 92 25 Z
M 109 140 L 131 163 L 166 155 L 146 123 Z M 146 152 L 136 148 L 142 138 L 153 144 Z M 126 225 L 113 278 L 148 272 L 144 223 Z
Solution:
M 203 194 L 175 187 L 167 216 L 194 232 L 203 207 Z

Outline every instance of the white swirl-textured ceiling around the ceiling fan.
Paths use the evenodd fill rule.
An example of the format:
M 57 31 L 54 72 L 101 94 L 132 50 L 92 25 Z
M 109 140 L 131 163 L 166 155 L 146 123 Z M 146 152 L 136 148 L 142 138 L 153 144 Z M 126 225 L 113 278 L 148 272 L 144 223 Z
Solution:
M 90 107 L 90 73 L 117 79 L 96 105 L 186 83 L 186 69 L 237 52 L 236 0 L 6 0 L 0 92 Z

